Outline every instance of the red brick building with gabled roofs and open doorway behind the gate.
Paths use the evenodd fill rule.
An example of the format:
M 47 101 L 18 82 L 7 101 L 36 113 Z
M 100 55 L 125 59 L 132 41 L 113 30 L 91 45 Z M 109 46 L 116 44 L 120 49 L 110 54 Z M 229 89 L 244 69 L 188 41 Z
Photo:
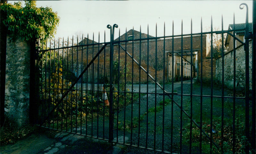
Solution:
M 136 40 L 140 39 L 141 40 Z M 173 44 L 172 44 L 172 39 Z M 134 40 L 134 41 L 132 41 Z M 132 58 L 136 60 L 140 65 L 148 71 L 157 82 L 162 83 L 164 80 L 165 82 L 172 80 L 172 56 L 174 58 L 173 61 L 173 73 L 174 73 L 174 81 L 180 80 L 181 75 L 181 37 L 174 37 L 174 38 L 165 38 L 165 39 L 156 39 L 153 36 L 150 36 L 145 33 L 140 33 L 135 30 L 129 30 L 127 33 L 124 33 L 114 41 L 120 41 L 120 44 L 114 45 L 114 61 L 120 62 L 120 67 L 122 69 L 125 68 L 126 64 L 126 76 L 127 82 L 138 83 L 139 78 L 141 79 L 141 83 L 147 82 L 147 73 L 143 70 L 140 71 L 140 66 L 132 61 Z M 191 76 L 198 78 L 201 75 L 201 35 L 194 35 L 192 36 L 183 36 L 183 76 L 184 79 Z M 78 61 L 81 63 L 83 57 L 83 67 L 86 66 L 86 62 L 90 61 L 94 55 L 100 50 L 103 44 L 99 44 L 95 41 L 89 40 L 84 38 L 84 44 L 92 44 L 90 46 L 84 46 L 83 52 L 82 48 L 78 50 Z M 192 42 L 192 62 L 191 62 L 191 42 Z M 82 45 L 82 41 L 79 43 Z M 172 55 L 172 45 L 173 45 L 173 52 Z M 209 43 L 206 39 L 206 35 L 202 35 L 202 52 L 203 52 L 203 79 L 208 81 L 210 79 L 209 74 L 211 74 L 211 59 L 208 57 L 210 54 Z M 125 51 L 131 55 L 127 55 Z M 83 53 L 83 56 L 82 56 Z M 104 58 L 105 57 L 105 58 Z M 76 57 L 75 57 L 76 59 Z M 109 65 L 109 46 L 105 48 L 104 51 L 100 54 L 100 56 L 94 61 L 95 66 L 99 66 L 100 69 L 104 69 L 104 62 L 105 68 Z M 213 62 L 214 64 L 215 62 Z M 192 65 L 192 70 L 191 70 Z M 213 66 L 213 69 L 215 67 Z M 99 69 L 98 69 L 99 70 Z M 209 72 L 210 71 L 210 72 Z M 215 70 L 213 70 L 213 74 L 215 74 Z M 124 72 L 124 71 L 123 71 Z M 93 72 L 93 76 L 98 77 L 98 71 Z M 92 77 L 92 72 L 90 73 L 90 77 Z M 105 73 L 106 75 L 107 73 Z M 133 77 L 133 78 L 132 78 Z M 91 80 L 91 79 L 90 79 Z M 133 80 L 133 81 L 132 81 Z M 97 80 L 94 79 L 94 82 Z M 149 78 L 149 83 L 153 83 L 153 80 Z

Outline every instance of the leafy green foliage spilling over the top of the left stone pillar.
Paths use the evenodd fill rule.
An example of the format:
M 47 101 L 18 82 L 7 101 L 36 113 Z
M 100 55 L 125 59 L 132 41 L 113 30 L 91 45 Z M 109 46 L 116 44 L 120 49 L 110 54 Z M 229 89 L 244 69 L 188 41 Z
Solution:
M 57 12 L 50 7 L 36 7 L 36 1 L 25 1 L 25 7 L 21 2 L 1 4 L 7 17 L 3 23 L 8 28 L 9 35 L 15 39 L 29 41 L 36 38 L 50 38 L 56 33 L 60 18 Z

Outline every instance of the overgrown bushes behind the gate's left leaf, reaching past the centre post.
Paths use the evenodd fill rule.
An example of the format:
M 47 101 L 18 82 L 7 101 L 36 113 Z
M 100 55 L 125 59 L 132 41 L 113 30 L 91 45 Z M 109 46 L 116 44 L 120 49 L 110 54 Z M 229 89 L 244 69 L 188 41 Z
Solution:
M 44 111 L 45 113 L 49 113 L 57 105 L 57 108 L 54 110 L 54 120 L 50 121 L 50 123 L 53 123 L 53 128 L 57 128 L 59 122 L 64 122 L 64 126 L 76 127 L 81 121 L 91 121 L 97 116 L 108 116 L 108 107 L 104 106 L 102 92 L 100 91 L 88 91 L 74 87 L 68 92 L 63 101 L 59 105 L 57 104 L 58 100 L 68 91 L 74 81 L 67 76 L 67 71 L 63 68 L 62 61 L 56 61 L 59 58 L 55 59 L 53 55 L 54 57 L 59 56 L 58 53 L 50 55 L 45 53 L 45 57 L 48 57 L 46 59 L 53 59 L 53 64 L 52 66 L 50 65 L 51 67 L 43 64 L 45 69 L 42 69 L 44 78 L 42 78 L 43 89 L 41 95 L 41 104 L 43 105 L 43 110 L 46 110 Z M 119 69 L 119 65 L 123 66 L 124 62 L 118 62 L 116 59 L 114 61 L 114 79 L 124 79 L 125 70 Z M 129 70 L 129 65 L 126 64 L 125 68 Z M 55 70 L 53 71 L 53 69 Z M 128 75 L 126 73 L 126 76 Z M 132 94 L 129 92 L 130 90 L 127 88 L 127 83 L 124 83 L 124 80 L 120 80 L 120 83 L 117 81 L 114 82 L 113 108 L 123 108 L 131 102 Z M 104 90 L 109 98 L 109 87 L 104 87 Z

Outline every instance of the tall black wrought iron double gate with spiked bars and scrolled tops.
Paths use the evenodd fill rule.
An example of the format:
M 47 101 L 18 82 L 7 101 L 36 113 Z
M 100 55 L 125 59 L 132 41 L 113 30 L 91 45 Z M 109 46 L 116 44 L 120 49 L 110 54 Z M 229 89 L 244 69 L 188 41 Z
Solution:
M 221 31 L 203 32 L 201 21 L 201 33 L 192 33 L 191 21 L 190 34 L 173 35 L 172 24 L 171 36 L 164 27 L 158 37 L 156 27 L 155 37 L 132 29 L 119 31 L 114 40 L 115 24 L 107 26 L 110 42 L 88 35 L 76 43 L 72 38 L 72 45 L 69 39 L 41 40 L 41 126 L 167 153 L 255 152 L 255 80 L 249 76 L 252 68 L 255 77 L 255 51 L 249 67 L 248 13 L 245 28 L 235 29 L 235 21 L 233 26 L 224 31 L 222 21 Z M 245 42 L 236 31 L 245 31 Z M 245 85 L 239 93 L 235 43 L 233 91 L 225 88 L 224 33 L 244 45 Z M 211 42 L 213 34 L 221 35 L 220 78 L 212 43 L 207 57 L 206 34 Z

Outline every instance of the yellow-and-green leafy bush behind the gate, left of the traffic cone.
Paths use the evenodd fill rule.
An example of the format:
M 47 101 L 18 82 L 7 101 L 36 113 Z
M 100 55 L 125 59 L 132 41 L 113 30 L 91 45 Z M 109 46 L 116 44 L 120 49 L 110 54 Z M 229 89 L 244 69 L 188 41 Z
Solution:
M 62 98 L 62 95 L 68 91 L 72 84 L 63 77 L 62 73 L 63 69 L 60 66 L 59 68 L 56 67 L 51 77 L 43 83 L 43 85 L 46 85 L 46 88 L 42 90 L 41 99 L 44 102 L 43 108 L 46 110 L 46 113 L 50 112 L 53 106 L 57 105 L 56 102 Z M 92 114 L 97 111 L 97 101 L 97 97 L 93 96 L 90 92 L 81 93 L 79 90 L 71 89 L 60 105 L 54 110 L 54 120 L 51 123 L 54 122 L 56 126 L 58 122 L 62 121 L 64 126 L 71 126 L 72 124 L 72 127 L 76 127 L 80 122 L 78 118 L 82 118 L 83 121 L 85 118 L 91 120 Z M 103 106 L 99 109 L 102 111 Z

